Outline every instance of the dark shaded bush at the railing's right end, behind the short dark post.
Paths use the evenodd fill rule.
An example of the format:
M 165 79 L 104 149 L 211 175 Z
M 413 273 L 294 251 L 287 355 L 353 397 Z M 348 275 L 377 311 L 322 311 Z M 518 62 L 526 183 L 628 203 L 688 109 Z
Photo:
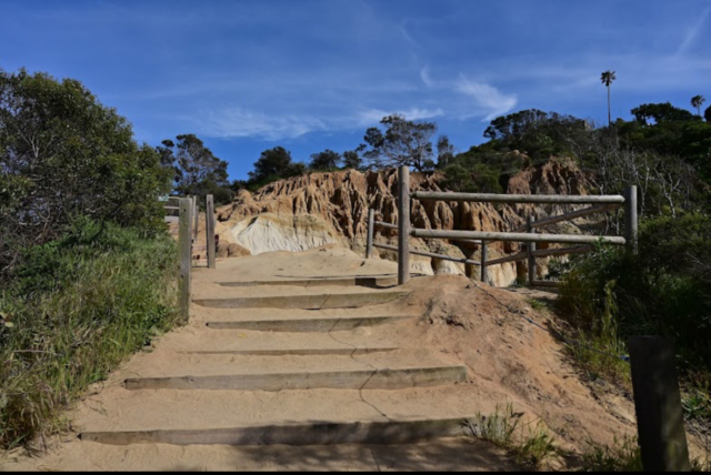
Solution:
M 561 315 L 603 350 L 622 351 L 632 335 L 673 338 L 684 378 L 708 394 L 711 216 L 649 220 L 639 239 L 637 255 L 601 247 L 574 259 L 563 280 Z

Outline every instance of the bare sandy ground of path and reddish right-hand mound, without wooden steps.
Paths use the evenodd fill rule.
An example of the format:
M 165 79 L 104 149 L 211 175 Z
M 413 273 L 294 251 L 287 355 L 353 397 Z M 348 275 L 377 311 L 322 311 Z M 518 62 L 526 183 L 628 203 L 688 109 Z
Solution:
M 336 275 L 392 275 L 395 264 L 326 247 L 228 260 L 194 273 L 193 294 L 252 296 L 372 292 L 358 287 L 228 289 L 227 281 Z M 304 422 L 370 422 L 492 414 L 511 404 L 540 420 L 559 445 L 581 449 L 635 432 L 632 403 L 600 396 L 580 382 L 553 337 L 534 326 L 531 294 L 492 289 L 463 276 L 413 279 L 404 300 L 362 309 L 224 310 L 193 305 L 190 323 L 134 355 L 70 412 L 77 433 L 89 431 L 217 428 Z M 279 333 L 211 330 L 210 321 L 409 315 L 397 323 L 348 332 Z M 284 348 L 397 347 L 372 354 L 244 356 L 229 352 Z M 209 352 L 219 354 L 206 354 Z M 128 391 L 127 377 L 298 373 L 304 371 L 465 365 L 468 382 L 398 391 L 308 390 Z M 513 469 L 490 444 L 458 438 L 399 446 L 227 447 L 160 444 L 109 446 L 63 436 L 50 452 L 4 454 L 0 469 Z

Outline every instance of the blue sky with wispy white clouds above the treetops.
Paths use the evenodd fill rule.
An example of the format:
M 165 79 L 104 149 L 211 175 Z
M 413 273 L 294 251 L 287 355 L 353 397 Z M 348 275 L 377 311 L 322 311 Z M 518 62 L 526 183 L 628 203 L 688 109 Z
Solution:
M 537 108 L 603 122 L 711 101 L 711 0 L 0 0 L 0 68 L 81 80 L 157 145 L 196 133 L 246 178 L 362 142 L 392 112 L 458 150 Z M 708 105 L 709 103 L 707 103 Z

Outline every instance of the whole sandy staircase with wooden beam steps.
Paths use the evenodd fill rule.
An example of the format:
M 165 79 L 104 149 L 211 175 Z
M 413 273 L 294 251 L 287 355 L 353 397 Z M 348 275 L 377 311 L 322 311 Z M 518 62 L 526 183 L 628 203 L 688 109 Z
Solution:
M 100 444 L 395 444 L 459 436 L 467 368 L 409 347 L 421 315 L 390 275 L 197 275 L 191 323 L 133 358 L 81 439 Z

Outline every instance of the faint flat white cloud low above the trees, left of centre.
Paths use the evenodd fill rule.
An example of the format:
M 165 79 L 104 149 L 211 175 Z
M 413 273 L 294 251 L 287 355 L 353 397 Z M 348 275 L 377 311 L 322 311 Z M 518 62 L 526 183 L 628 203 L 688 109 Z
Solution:
M 230 108 L 207 114 L 202 133 L 218 138 L 260 137 L 267 140 L 294 139 L 304 133 L 327 130 L 320 119 L 308 115 L 278 115 Z

